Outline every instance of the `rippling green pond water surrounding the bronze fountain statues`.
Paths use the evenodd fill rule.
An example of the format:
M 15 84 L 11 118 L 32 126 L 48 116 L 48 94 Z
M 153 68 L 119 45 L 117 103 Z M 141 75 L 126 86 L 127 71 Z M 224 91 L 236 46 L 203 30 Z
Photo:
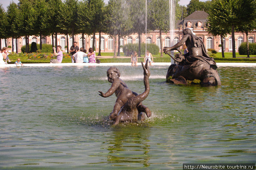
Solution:
M 150 67 L 144 122 L 110 125 L 116 96 L 99 96 L 109 67 L 0 68 L 0 169 L 182 169 L 182 163 L 255 163 L 256 68 L 220 67 L 222 86 L 165 83 Z M 144 91 L 141 66 L 118 66 Z

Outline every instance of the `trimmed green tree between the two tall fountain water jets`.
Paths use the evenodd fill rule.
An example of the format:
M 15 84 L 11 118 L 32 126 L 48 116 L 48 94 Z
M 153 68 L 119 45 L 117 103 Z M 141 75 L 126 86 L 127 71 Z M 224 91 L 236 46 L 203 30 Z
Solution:
M 162 6 L 162 8 L 159 8 Z M 162 32 L 167 33 L 170 30 L 170 20 L 169 20 L 169 1 L 168 0 L 152 0 L 148 5 L 149 10 L 149 25 L 152 30 L 159 30 L 160 37 L 160 49 L 161 57 L 163 57 L 163 41 Z

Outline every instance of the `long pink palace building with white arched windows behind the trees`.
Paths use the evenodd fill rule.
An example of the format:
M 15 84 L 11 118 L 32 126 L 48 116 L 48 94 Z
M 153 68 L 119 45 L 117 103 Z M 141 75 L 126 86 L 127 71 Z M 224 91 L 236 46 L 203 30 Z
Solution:
M 147 33 L 147 35 L 142 34 L 142 43 L 147 44 L 156 44 L 160 49 L 160 40 L 162 38 L 163 46 L 171 46 L 172 44 L 176 44 L 180 39 L 182 38 L 182 30 L 185 28 L 189 28 L 193 31 L 193 33 L 202 39 L 207 49 L 215 49 L 219 52 L 221 52 L 221 47 L 219 47 L 219 44 L 221 44 L 221 38 L 220 36 L 214 37 L 213 35 L 209 34 L 206 30 L 206 22 L 207 22 L 208 14 L 204 11 L 195 11 L 191 15 L 189 15 L 187 18 L 184 18 L 184 20 L 178 20 L 175 25 L 174 29 L 174 38 L 170 38 L 170 31 L 167 33 L 162 33 L 162 36 L 159 37 L 159 31 L 150 31 Z M 248 33 L 249 42 L 254 43 L 256 38 L 256 31 L 252 31 L 251 33 Z M 14 52 L 16 52 L 16 44 L 14 39 Z M 18 52 L 21 52 L 21 47 L 25 45 L 25 37 L 21 37 L 17 39 L 18 41 Z M 54 38 L 55 41 L 55 38 Z M 57 35 L 57 45 L 60 45 L 62 47 L 63 52 L 67 52 L 69 49 L 66 49 L 65 46 L 68 46 L 69 48 L 73 44 L 72 42 L 72 36 L 67 37 L 65 35 Z M 75 41 L 78 42 L 79 48 L 82 47 L 82 34 L 75 35 Z M 101 45 L 99 46 L 99 41 L 101 41 Z M 236 41 L 236 52 L 238 52 L 238 48 L 241 45 L 242 42 L 246 42 L 246 34 L 241 32 L 235 33 L 235 41 Z M 40 39 L 37 36 L 29 36 L 29 44 L 31 42 L 36 42 L 37 44 L 40 43 Z M 118 42 L 118 41 L 117 41 Z M 223 38 L 224 42 L 224 51 L 225 52 L 232 52 L 232 39 L 231 35 L 227 35 Z M 55 42 L 52 42 L 52 37 L 47 36 L 42 38 L 42 44 L 52 44 Z M 99 34 L 96 34 L 95 39 L 95 50 L 96 52 L 99 51 L 99 48 L 101 49 L 101 52 L 114 52 L 114 38 L 110 37 L 108 34 L 101 34 L 101 39 L 99 39 Z M 120 38 L 120 45 L 123 46 L 125 44 L 138 44 L 139 38 L 138 34 L 131 34 L 129 36 L 121 37 Z M 84 36 L 84 48 L 88 49 L 93 46 L 93 37 L 92 35 L 85 35 Z M 5 46 L 5 40 L 1 39 L 1 46 L 2 48 Z M 12 39 L 7 39 L 7 46 L 12 46 Z M 116 45 L 117 47 L 118 45 Z M 11 49 L 9 49 L 11 50 Z M 122 52 L 122 48 L 120 48 L 120 51 Z M 160 50 L 159 50 L 160 51 Z

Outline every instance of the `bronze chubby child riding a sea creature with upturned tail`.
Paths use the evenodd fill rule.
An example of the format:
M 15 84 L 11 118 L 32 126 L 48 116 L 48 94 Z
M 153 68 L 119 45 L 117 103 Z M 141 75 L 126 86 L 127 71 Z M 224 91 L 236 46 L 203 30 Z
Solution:
M 110 120 L 114 121 L 114 125 L 117 125 L 119 122 L 125 121 L 138 121 L 144 120 L 147 117 L 151 116 L 151 111 L 148 107 L 142 105 L 142 101 L 145 100 L 149 94 L 149 81 L 150 70 L 148 68 L 148 61 L 144 65 L 142 63 L 144 70 L 144 86 L 145 91 L 142 94 L 137 94 L 136 92 L 131 91 L 126 84 L 121 80 L 120 72 L 116 67 L 110 67 L 107 71 L 108 81 L 111 84 L 111 87 L 106 93 L 99 91 L 99 95 L 102 97 L 109 97 L 112 94 L 116 94 L 116 103 L 114 105 L 113 111 L 110 113 Z

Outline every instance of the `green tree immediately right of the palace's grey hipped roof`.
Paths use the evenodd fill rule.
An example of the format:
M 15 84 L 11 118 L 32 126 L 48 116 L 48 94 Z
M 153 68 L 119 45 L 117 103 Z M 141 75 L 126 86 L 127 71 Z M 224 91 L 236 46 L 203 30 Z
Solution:
M 229 9 L 225 1 L 212 0 L 212 8 L 209 10 L 207 31 L 214 36 L 221 36 L 222 57 L 224 58 L 223 37 L 230 34 L 231 28 L 225 26 L 228 23 Z

